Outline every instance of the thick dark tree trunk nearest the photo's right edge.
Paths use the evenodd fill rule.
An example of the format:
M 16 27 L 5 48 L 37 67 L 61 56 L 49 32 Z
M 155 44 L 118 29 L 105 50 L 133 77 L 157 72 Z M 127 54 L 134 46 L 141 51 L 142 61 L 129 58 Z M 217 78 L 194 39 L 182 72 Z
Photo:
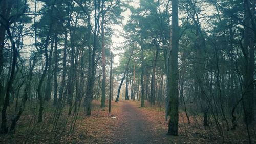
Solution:
M 246 124 L 251 124 L 254 119 L 254 86 L 253 86 L 253 72 L 255 62 L 255 46 L 254 33 L 252 31 L 252 24 L 250 23 L 250 2 L 244 0 L 245 3 L 245 23 L 244 23 L 244 44 L 242 52 L 244 56 L 244 120 Z M 253 23 L 253 22 L 252 22 Z

